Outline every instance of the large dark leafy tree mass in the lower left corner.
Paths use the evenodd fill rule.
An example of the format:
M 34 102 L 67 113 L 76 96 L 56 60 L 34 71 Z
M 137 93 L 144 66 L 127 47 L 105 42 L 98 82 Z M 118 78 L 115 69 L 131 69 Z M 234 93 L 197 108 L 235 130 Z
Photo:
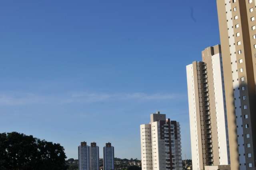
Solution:
M 60 144 L 17 132 L 0 133 L 1 170 L 66 170 Z

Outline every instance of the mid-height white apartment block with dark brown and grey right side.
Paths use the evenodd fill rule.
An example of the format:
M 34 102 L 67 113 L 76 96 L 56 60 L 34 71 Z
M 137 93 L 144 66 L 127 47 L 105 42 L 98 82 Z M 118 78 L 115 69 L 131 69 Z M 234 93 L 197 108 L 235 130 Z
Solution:
M 140 125 L 142 170 L 182 170 L 180 124 L 165 114 Z

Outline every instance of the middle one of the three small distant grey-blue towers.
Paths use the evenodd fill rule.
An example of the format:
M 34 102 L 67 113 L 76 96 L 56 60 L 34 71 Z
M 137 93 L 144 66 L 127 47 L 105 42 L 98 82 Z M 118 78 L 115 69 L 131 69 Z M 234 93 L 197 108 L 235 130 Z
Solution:
M 100 158 L 99 158 L 99 147 L 95 142 L 91 143 L 89 146 L 89 164 L 90 170 L 99 170 L 100 169 Z

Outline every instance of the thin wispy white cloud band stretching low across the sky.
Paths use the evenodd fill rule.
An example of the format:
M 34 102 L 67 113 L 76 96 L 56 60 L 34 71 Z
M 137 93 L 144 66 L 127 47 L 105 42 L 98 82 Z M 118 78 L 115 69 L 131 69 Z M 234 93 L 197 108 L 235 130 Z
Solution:
M 58 94 L 44 96 L 31 93 L 0 93 L 1 106 L 16 106 L 29 104 L 68 104 L 68 103 L 94 103 L 121 100 L 173 100 L 180 98 L 178 94 L 146 94 L 146 93 L 90 93 L 73 92 L 67 94 Z

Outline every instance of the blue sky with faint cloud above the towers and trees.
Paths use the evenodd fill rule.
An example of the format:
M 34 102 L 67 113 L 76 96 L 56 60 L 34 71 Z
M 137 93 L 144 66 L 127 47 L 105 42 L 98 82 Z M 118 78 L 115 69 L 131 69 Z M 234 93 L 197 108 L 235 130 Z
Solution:
M 177 120 L 190 154 L 186 65 L 219 43 L 215 0 L 0 2 L 0 132 L 140 158 L 140 124 Z M 102 157 L 102 152 L 100 153 Z

